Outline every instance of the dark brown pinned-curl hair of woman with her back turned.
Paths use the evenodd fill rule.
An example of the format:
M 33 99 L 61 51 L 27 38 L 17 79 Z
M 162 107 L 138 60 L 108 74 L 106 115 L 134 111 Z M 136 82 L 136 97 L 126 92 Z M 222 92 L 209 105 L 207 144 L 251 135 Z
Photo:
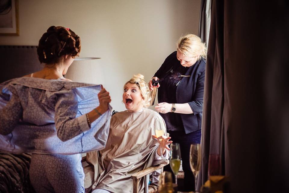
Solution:
M 80 37 L 69 28 L 51 26 L 39 40 L 37 54 L 40 63 L 54 64 L 60 62 L 61 56 L 79 55 Z

